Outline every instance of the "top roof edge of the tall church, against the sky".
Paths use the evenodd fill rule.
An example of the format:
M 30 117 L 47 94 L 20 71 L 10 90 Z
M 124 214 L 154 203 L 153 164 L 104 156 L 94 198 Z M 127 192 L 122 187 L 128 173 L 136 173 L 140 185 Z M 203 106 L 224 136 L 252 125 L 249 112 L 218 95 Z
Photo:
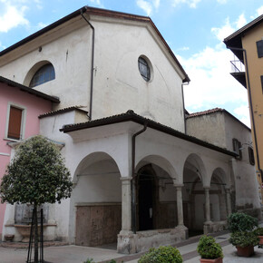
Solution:
M 114 17 L 114 18 L 125 19 L 125 20 L 134 20 L 134 21 L 138 21 L 138 22 L 141 22 L 141 23 L 150 23 L 151 26 L 153 27 L 153 29 L 155 30 L 156 34 L 158 34 L 159 37 L 161 38 L 162 43 L 167 48 L 169 54 L 171 55 L 171 57 L 173 58 L 175 63 L 178 64 L 178 66 L 180 68 L 180 71 L 184 74 L 185 79 L 183 80 L 183 82 L 184 83 L 190 82 L 190 78 L 189 78 L 188 74 L 184 71 L 184 69 L 180 65 L 178 59 L 176 58 L 176 56 L 171 51 L 170 46 L 166 43 L 166 41 L 162 37 L 160 31 L 156 27 L 156 25 L 151 21 L 150 17 L 142 16 L 142 15 L 132 15 L 132 14 L 116 12 L 116 11 L 112 11 L 112 10 L 95 8 L 95 7 L 90 7 L 90 6 L 83 6 L 82 8 L 80 8 L 80 9 L 76 10 L 75 12 L 73 12 L 72 14 L 64 16 L 62 19 L 54 22 L 53 24 L 50 24 L 50 25 L 44 27 L 43 29 L 37 31 L 36 33 L 25 37 L 23 40 L 17 42 L 16 44 L 13 44 L 13 45 L 7 47 L 5 50 L 0 52 L 0 57 L 3 56 L 4 54 L 7 54 L 7 53 L 11 52 L 12 50 L 15 50 L 16 48 L 18 48 L 21 45 L 24 45 L 24 44 L 26 44 L 28 42 L 31 42 L 36 37 L 38 37 L 38 36 L 40 36 L 42 34 L 45 34 L 46 32 L 48 32 L 48 31 L 54 29 L 55 27 L 59 26 L 60 24 L 63 24 L 65 22 L 73 19 L 74 17 L 76 17 L 78 15 L 81 15 L 82 13 L 83 14 L 86 13 L 87 15 L 100 15 L 100 16 Z

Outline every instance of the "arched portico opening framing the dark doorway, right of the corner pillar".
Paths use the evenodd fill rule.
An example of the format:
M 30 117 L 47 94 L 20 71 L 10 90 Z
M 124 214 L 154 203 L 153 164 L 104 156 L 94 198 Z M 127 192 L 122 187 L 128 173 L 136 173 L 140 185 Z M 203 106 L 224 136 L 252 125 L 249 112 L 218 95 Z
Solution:
M 137 230 L 173 229 L 177 226 L 178 176 L 170 161 L 157 155 L 143 158 L 136 166 Z

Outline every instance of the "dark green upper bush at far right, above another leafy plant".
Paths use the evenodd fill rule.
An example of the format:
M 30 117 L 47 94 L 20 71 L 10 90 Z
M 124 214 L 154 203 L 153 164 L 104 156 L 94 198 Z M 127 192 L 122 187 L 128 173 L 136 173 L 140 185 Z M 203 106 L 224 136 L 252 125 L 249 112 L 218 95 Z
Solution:
M 258 227 L 258 219 L 244 213 L 232 213 L 228 217 L 230 232 L 252 231 Z

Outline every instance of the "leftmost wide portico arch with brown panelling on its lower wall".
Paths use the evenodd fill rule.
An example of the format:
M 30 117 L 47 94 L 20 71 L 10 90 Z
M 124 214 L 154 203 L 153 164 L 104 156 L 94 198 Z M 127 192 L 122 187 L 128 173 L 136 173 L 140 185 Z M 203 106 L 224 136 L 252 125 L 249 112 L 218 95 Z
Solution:
M 105 152 L 94 152 L 80 161 L 71 198 L 76 245 L 95 247 L 117 242 L 122 229 L 120 178 L 117 163 Z

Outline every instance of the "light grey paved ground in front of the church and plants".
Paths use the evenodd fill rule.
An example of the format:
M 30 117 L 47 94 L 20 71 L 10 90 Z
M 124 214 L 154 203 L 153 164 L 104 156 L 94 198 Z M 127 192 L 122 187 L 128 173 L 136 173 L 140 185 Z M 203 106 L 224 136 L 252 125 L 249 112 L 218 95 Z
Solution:
M 215 238 L 223 248 L 224 263 L 234 262 L 263 262 L 263 249 L 255 248 L 255 255 L 251 258 L 240 258 L 236 254 L 236 248 L 229 244 L 229 234 L 223 234 Z M 200 262 L 196 251 L 198 238 L 188 239 L 178 245 L 180 254 L 186 263 Z M 1 244 L 0 244 L 1 245 Z M 24 248 L 0 247 L 0 263 L 24 263 L 27 258 L 27 250 Z M 44 260 L 52 263 L 82 263 L 87 258 L 93 258 L 94 262 L 107 262 L 112 258 L 116 262 L 138 262 L 140 254 L 122 255 L 112 248 L 87 248 L 78 246 L 62 246 L 44 248 Z

